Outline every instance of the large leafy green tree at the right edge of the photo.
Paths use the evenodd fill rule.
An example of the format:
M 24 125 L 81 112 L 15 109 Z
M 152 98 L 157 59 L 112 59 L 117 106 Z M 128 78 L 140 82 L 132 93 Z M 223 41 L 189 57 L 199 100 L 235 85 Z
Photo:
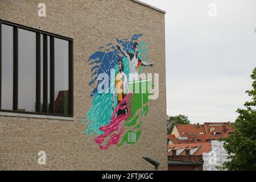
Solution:
M 251 75 L 253 89 L 246 93 L 252 97 L 244 105 L 246 109 L 237 109 L 239 114 L 234 122 L 235 132 L 224 141 L 224 148 L 229 154 L 229 161 L 221 169 L 235 171 L 256 170 L 256 68 Z

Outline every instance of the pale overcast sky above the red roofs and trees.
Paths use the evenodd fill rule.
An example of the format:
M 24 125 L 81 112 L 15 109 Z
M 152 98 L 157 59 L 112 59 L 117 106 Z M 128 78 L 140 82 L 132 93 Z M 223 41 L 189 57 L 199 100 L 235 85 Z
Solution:
M 233 122 L 256 67 L 255 0 L 142 0 L 167 11 L 167 114 Z M 209 16 L 209 4 L 217 16 Z

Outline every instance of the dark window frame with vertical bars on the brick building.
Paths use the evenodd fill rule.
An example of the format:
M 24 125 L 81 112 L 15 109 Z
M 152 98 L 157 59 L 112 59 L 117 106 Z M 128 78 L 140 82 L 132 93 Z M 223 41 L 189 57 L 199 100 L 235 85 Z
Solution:
M 12 26 L 14 28 L 14 70 L 13 70 L 13 110 L 3 110 L 1 109 L 2 104 L 2 24 L 7 26 Z M 32 31 L 36 33 L 36 111 L 18 111 L 18 29 L 22 28 L 23 30 Z M 40 103 L 41 103 L 41 38 L 43 35 L 43 112 L 40 112 Z M 47 36 L 50 37 L 50 52 L 48 52 Z M 69 44 L 69 114 L 55 114 L 54 113 L 54 38 L 59 38 L 67 40 Z M 50 54 L 50 96 L 47 96 L 48 93 L 48 53 Z M 50 98 L 50 109 L 47 110 L 47 99 Z M 10 112 L 10 113 L 23 113 L 23 114 L 38 114 L 38 115 L 53 115 L 59 117 L 73 117 L 73 39 L 67 38 L 65 36 L 52 34 L 46 31 L 38 30 L 35 28 L 30 28 L 22 26 L 20 24 L 7 22 L 0 19 L 0 113 L 1 112 Z

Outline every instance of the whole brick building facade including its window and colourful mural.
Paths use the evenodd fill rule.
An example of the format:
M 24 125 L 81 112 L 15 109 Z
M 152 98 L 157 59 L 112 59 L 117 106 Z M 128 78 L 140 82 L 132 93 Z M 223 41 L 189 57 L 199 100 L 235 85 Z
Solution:
M 0 22 L 0 170 L 167 170 L 164 11 L 3 0 Z

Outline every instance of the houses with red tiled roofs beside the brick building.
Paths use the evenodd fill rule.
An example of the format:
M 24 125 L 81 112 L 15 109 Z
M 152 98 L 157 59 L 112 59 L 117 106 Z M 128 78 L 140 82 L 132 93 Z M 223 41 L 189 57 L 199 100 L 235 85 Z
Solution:
M 212 151 L 211 141 L 234 133 L 230 122 L 176 125 L 168 141 L 168 170 L 202 171 L 203 154 Z

